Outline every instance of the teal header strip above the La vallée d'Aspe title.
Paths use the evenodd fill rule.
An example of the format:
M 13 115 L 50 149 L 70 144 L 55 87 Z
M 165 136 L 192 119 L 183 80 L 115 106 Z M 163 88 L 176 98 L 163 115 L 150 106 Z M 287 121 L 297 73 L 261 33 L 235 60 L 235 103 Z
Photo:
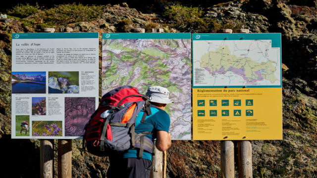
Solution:
M 78 33 L 12 33 L 12 39 L 84 39 L 99 38 L 98 32 Z

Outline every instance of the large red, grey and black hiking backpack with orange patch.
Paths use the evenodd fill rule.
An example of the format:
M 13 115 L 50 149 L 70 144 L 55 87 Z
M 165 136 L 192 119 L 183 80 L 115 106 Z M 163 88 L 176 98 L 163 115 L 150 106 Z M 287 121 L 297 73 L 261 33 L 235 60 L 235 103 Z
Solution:
M 87 147 L 88 152 L 97 156 L 122 153 L 130 148 L 139 150 L 139 158 L 144 150 L 153 154 L 154 143 L 145 136 L 152 133 L 134 132 L 141 109 L 144 110 L 143 123 L 146 116 L 151 115 L 150 102 L 138 89 L 122 86 L 107 92 L 85 126 L 83 148 Z

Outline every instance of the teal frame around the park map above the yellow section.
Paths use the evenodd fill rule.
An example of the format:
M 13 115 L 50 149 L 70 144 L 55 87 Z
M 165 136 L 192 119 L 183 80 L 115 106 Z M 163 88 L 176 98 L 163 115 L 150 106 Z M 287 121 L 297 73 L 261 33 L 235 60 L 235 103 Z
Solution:
M 215 34 L 192 34 L 192 64 L 194 62 L 194 46 L 193 41 L 199 40 L 271 40 L 272 47 L 280 48 L 280 81 L 281 85 L 279 86 L 194 86 L 194 80 L 192 80 L 192 86 L 196 89 L 202 88 L 282 88 L 282 36 L 281 33 L 233 33 L 233 34 L 224 34 L 224 33 L 215 33 Z M 192 71 L 194 71 L 194 65 L 192 65 Z

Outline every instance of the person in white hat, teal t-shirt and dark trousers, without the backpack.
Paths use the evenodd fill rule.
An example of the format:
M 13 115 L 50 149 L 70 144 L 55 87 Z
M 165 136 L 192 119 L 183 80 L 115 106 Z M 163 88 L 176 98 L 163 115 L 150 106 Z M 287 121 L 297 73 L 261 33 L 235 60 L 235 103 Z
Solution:
M 151 103 L 151 115 L 146 116 L 141 122 L 144 110 L 136 117 L 135 133 L 147 133 L 144 140 L 150 140 L 160 151 L 165 151 L 171 146 L 171 135 L 168 133 L 170 118 L 164 111 L 166 104 L 172 103 L 169 99 L 169 91 L 164 87 L 153 86 L 147 90 L 146 95 Z M 146 141 L 145 141 L 146 142 Z M 136 143 L 137 144 L 137 143 Z M 152 153 L 146 146 L 142 149 L 129 149 L 123 154 L 109 156 L 110 167 L 108 178 L 150 178 L 152 169 Z

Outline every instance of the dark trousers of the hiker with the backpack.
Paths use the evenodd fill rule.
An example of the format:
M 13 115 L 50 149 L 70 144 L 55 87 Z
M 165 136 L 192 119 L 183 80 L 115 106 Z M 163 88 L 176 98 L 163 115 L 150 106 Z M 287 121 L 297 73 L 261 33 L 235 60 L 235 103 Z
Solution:
M 150 178 L 152 162 L 148 159 L 109 157 L 107 178 Z

